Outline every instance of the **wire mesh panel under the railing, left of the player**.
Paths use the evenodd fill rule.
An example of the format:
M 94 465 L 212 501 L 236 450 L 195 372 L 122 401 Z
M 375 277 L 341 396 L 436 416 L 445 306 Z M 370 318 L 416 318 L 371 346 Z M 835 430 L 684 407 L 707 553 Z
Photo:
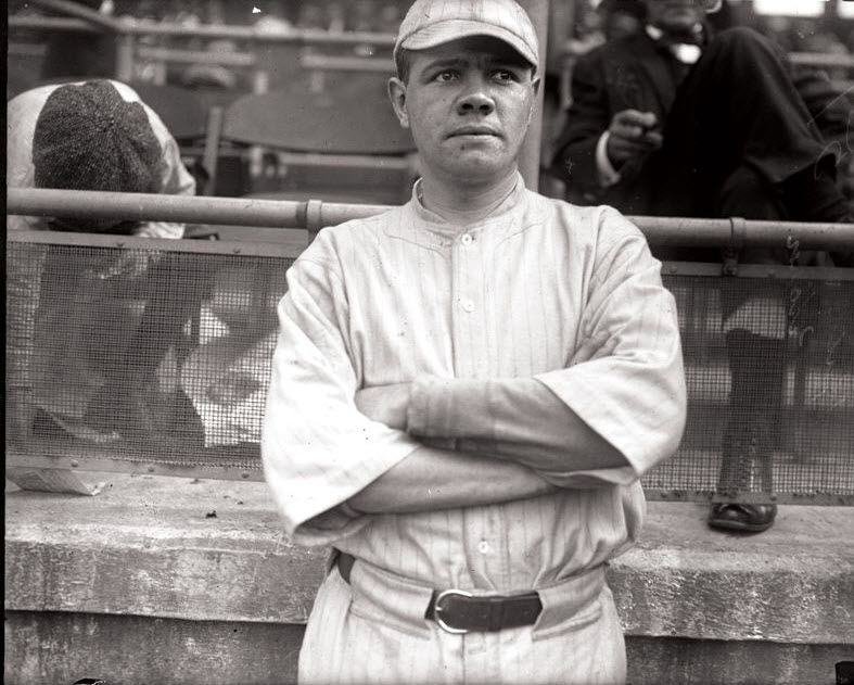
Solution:
M 259 469 L 292 259 L 22 242 L 8 257 L 18 449 Z

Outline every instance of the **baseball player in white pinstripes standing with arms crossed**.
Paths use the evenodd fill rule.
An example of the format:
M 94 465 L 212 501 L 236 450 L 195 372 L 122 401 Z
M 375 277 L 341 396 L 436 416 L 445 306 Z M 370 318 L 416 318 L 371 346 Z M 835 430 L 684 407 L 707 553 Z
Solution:
M 299 680 L 623 682 L 604 565 L 681 436 L 674 300 L 616 211 L 525 189 L 522 8 L 417 0 L 395 60 L 423 177 L 322 230 L 279 305 L 266 477 L 335 548 Z

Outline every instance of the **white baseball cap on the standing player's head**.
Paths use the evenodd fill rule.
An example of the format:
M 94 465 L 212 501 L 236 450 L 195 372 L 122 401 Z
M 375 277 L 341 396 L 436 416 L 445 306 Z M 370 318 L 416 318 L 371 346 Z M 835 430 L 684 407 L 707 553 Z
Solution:
M 513 0 L 416 0 L 397 33 L 400 49 L 428 50 L 470 36 L 492 36 L 512 47 L 534 71 L 539 41 L 527 12 Z

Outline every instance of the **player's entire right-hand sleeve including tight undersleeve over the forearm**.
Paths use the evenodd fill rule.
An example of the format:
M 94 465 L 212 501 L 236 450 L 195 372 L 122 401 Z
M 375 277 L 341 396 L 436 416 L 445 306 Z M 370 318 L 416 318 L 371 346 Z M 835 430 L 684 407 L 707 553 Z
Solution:
M 613 212 L 607 216 L 630 230 L 619 230 L 597 258 L 571 365 L 533 378 L 418 379 L 410 432 L 466 439 L 460 448 L 507 456 L 566 487 L 627 484 L 675 452 L 686 405 L 675 302 L 639 231 Z M 570 411 L 628 466 L 572 466 Z

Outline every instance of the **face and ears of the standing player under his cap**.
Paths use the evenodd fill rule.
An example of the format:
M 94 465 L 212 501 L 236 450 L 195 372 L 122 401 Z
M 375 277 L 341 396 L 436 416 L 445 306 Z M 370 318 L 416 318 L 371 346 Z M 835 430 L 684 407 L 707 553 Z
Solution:
M 472 37 L 410 53 L 406 84 L 388 86 L 425 174 L 463 185 L 515 168 L 539 79 L 510 46 Z

